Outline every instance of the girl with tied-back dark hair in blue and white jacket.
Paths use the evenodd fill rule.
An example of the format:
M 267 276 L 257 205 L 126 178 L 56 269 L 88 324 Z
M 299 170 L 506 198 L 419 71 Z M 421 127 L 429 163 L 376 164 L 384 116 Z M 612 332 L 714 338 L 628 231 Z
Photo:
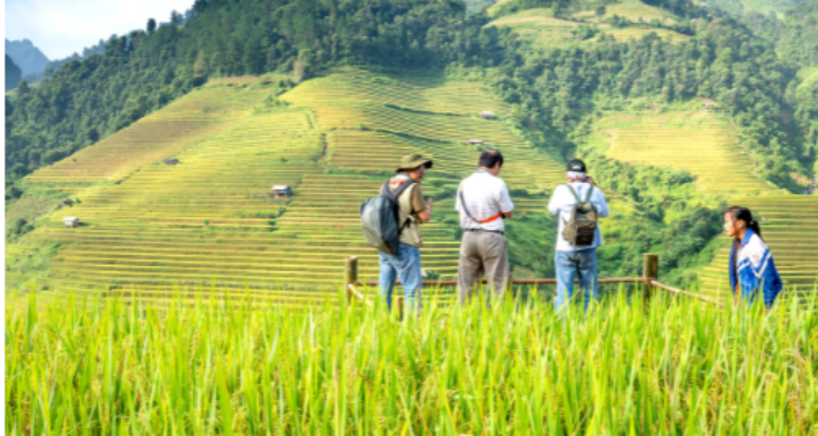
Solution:
M 761 239 L 758 221 L 746 207 L 733 206 L 724 213 L 724 231 L 734 238 L 730 252 L 730 288 L 733 302 L 748 303 L 763 295 L 767 308 L 772 306 L 783 282 L 772 262 L 772 253 Z

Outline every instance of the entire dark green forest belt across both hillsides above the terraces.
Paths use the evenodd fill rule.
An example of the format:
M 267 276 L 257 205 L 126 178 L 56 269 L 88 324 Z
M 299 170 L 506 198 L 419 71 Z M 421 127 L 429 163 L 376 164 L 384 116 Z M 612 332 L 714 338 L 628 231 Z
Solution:
M 699 14 L 686 0 L 652 3 L 688 16 Z M 503 7 L 510 13 L 544 4 L 550 1 L 517 0 Z M 567 14 L 592 7 L 592 1 L 558 5 Z M 777 59 L 771 44 L 732 19 L 700 17 L 695 39 L 686 44 L 606 40 L 532 57 L 502 31 L 481 29 L 484 16 L 465 17 L 464 12 L 457 1 L 199 1 L 183 27 L 161 26 L 110 40 L 104 56 L 70 62 L 36 90 L 19 95 L 11 116 L 7 173 L 20 177 L 67 156 L 208 76 L 294 69 L 303 78 L 328 64 L 348 62 L 502 63 L 508 76 L 502 82 L 509 84 L 531 85 L 544 74 L 539 83 L 548 85 L 532 93 L 515 90 L 520 84 L 501 86 L 519 105 L 520 117 L 541 120 L 540 125 L 550 130 L 576 122 L 598 93 L 661 96 L 666 101 L 714 98 L 747 130 L 765 178 L 786 184 L 790 173 L 811 170 L 815 141 L 786 116 L 802 110 L 803 102 L 795 96 L 782 98 L 795 69 Z M 804 32 L 792 34 L 797 39 Z M 810 56 L 809 50 L 799 52 Z M 572 98 L 556 98 L 556 93 L 569 93 Z

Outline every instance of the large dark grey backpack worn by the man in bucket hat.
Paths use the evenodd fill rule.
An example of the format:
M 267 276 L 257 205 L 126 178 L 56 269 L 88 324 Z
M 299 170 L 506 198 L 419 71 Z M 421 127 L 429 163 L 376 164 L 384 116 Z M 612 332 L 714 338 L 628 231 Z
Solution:
M 361 229 L 366 245 L 393 256 L 398 254 L 400 232 L 411 222 L 408 218 L 406 222 L 400 222 L 398 197 L 412 184 L 414 184 L 413 180 L 405 180 L 398 189 L 389 192 L 389 181 L 387 181 L 382 189 L 383 194 L 363 202 L 360 207 Z

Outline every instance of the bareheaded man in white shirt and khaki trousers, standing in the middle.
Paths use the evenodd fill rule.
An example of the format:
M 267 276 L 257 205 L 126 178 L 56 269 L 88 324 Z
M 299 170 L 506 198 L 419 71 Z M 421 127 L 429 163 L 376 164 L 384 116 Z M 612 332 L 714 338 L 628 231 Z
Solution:
M 488 276 L 491 290 L 500 299 L 508 282 L 508 251 L 503 219 L 512 216 L 514 204 L 508 187 L 501 179 L 503 155 L 494 149 L 480 155 L 480 169 L 460 182 L 455 209 L 460 213 L 464 229 L 457 288 L 465 304 L 474 292 L 474 284 Z M 491 305 L 492 292 L 486 292 Z

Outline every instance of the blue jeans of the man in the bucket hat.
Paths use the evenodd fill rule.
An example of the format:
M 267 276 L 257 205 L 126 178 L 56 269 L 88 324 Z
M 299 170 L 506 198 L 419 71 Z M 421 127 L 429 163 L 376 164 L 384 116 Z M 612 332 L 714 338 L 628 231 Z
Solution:
M 392 310 L 392 291 L 395 278 L 400 278 L 406 291 L 406 311 L 412 315 L 420 310 L 420 287 L 423 278 L 420 275 L 420 250 L 417 246 L 400 243 L 398 255 L 378 252 L 381 265 L 381 296 L 386 299 L 386 306 Z

